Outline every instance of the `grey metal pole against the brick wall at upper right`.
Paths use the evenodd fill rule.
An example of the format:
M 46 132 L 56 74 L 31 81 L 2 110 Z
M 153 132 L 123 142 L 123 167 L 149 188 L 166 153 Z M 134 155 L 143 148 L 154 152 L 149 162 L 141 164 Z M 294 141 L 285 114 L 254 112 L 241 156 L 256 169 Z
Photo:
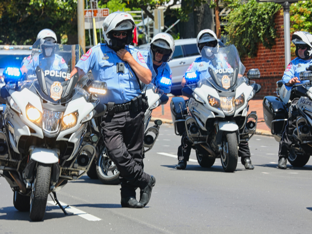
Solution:
M 284 2 L 284 44 L 285 44 L 285 68 L 290 63 L 290 17 L 289 2 Z

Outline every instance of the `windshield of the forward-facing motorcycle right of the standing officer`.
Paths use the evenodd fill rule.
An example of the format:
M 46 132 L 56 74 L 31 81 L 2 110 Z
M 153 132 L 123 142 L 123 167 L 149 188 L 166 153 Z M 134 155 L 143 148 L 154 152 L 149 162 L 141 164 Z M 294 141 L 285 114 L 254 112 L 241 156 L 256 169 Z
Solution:
M 229 92 L 235 90 L 241 82 L 246 82 L 242 77 L 246 67 L 242 64 L 236 47 L 234 45 L 220 47 L 216 53 L 213 49 L 208 46 L 202 49 L 202 56 L 208 60 L 210 66 L 202 71 L 198 69 L 197 87 L 206 84 L 221 92 Z

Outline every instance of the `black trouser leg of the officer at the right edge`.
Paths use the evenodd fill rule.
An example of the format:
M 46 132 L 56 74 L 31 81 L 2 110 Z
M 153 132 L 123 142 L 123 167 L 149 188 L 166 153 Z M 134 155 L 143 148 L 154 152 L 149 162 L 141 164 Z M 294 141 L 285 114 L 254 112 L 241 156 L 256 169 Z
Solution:
M 297 104 L 299 98 L 295 98 L 291 105 L 294 106 Z M 296 119 L 291 120 L 291 113 L 289 113 L 289 117 L 287 119 L 287 124 L 285 126 L 285 130 L 282 134 L 282 138 L 280 139 L 280 148 L 278 151 L 279 157 L 288 158 L 288 153 L 290 146 L 292 144 L 292 134 L 296 128 Z

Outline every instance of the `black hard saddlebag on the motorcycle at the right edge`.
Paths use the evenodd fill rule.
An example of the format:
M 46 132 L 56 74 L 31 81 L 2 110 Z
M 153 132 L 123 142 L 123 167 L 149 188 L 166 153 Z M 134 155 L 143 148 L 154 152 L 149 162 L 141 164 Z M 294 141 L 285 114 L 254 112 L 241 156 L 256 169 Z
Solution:
M 288 119 L 288 108 L 278 97 L 265 96 L 263 99 L 263 117 L 273 135 L 282 134 Z M 271 128 L 272 127 L 272 128 Z

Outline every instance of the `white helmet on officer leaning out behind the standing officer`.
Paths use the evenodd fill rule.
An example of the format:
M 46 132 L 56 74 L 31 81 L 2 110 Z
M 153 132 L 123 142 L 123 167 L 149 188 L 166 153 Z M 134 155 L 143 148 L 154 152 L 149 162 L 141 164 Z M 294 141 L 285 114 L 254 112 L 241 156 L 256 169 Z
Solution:
M 153 53 L 153 60 L 155 60 L 155 53 L 163 54 L 162 62 L 169 62 L 174 52 L 174 39 L 166 32 L 161 32 L 155 35 L 151 41 L 150 51 Z

